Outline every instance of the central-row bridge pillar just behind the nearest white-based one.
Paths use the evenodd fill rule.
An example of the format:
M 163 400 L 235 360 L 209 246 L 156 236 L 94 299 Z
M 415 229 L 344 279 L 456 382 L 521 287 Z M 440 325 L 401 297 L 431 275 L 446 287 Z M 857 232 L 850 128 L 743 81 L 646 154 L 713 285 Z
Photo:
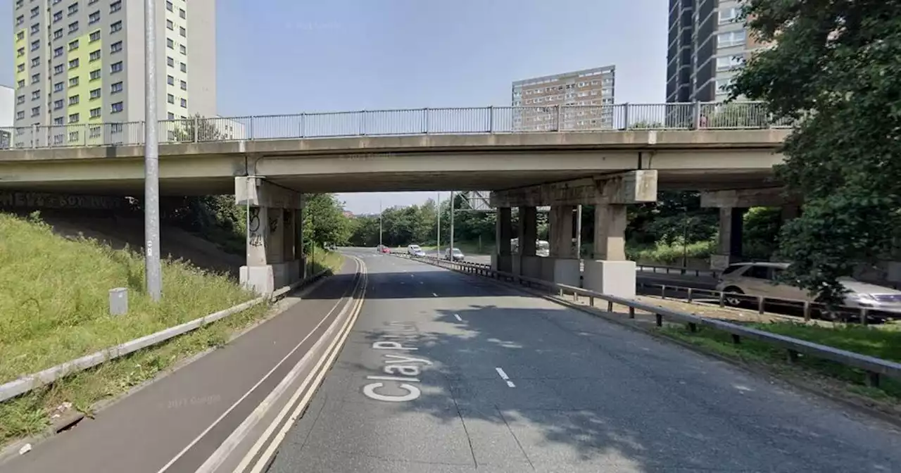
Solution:
M 549 215 L 551 255 L 542 261 L 542 279 L 581 286 L 581 264 L 573 246 L 576 205 L 553 205 Z

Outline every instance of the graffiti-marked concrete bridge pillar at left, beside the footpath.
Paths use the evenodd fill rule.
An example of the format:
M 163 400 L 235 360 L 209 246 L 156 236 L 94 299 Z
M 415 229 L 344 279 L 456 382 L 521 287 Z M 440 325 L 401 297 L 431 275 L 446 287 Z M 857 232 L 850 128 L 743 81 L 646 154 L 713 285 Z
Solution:
M 299 280 L 295 215 L 303 206 L 300 194 L 262 177 L 235 177 L 235 202 L 250 210 L 241 285 L 268 295 Z

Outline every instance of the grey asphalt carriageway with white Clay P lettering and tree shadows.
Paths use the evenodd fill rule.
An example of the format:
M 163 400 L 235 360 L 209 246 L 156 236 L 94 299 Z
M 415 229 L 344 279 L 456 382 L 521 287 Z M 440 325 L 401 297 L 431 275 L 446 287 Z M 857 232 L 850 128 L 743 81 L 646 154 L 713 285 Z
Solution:
M 901 434 L 818 397 L 486 278 L 353 252 L 362 312 L 272 473 L 901 465 Z

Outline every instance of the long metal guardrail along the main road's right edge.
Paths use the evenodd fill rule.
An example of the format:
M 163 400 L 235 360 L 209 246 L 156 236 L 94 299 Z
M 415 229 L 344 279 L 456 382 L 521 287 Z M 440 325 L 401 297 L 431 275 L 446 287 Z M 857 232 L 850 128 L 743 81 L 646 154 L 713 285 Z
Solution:
M 895 361 L 889 361 L 887 359 L 878 359 L 875 357 L 870 357 L 868 355 L 854 353 L 853 351 L 828 347 L 811 341 L 798 340 L 792 337 L 787 337 L 785 335 L 779 335 L 777 333 L 765 332 L 751 327 L 745 327 L 736 323 L 728 323 L 721 320 L 699 317 L 693 314 L 685 314 L 675 310 L 667 309 L 665 307 L 660 307 L 658 305 L 644 304 L 633 299 L 608 296 L 588 289 L 583 289 L 581 287 L 572 287 L 553 283 L 551 281 L 544 281 L 542 279 L 537 279 L 534 277 L 524 277 L 503 271 L 496 271 L 491 268 L 486 268 L 485 265 L 476 265 L 473 263 L 460 261 L 449 261 L 446 259 L 437 259 L 432 257 L 420 257 L 415 259 L 431 262 L 436 266 L 455 269 L 463 273 L 492 277 L 498 280 L 514 282 L 528 287 L 542 287 L 552 289 L 553 291 L 557 292 L 558 296 L 560 297 L 572 295 L 574 300 L 578 300 L 579 296 L 584 296 L 588 298 L 588 305 L 591 307 L 594 307 L 596 299 L 599 299 L 607 303 L 607 312 L 613 312 L 614 305 L 624 305 L 629 308 L 630 319 L 633 319 L 635 317 L 636 310 L 654 314 L 656 319 L 655 322 L 658 327 L 663 325 L 664 320 L 672 320 L 678 321 L 680 323 L 687 323 L 688 330 L 690 330 L 691 332 L 696 332 L 698 326 L 705 326 L 714 328 L 722 332 L 730 333 L 732 335 L 733 343 L 741 343 L 742 338 L 764 341 L 786 350 L 788 362 L 795 361 L 799 353 L 803 353 L 815 358 L 829 359 L 837 363 L 841 363 L 842 365 L 846 365 L 851 368 L 858 368 L 864 371 L 864 373 L 866 374 L 864 382 L 867 384 L 867 386 L 870 387 L 878 387 L 879 378 L 881 376 L 901 379 L 901 363 L 896 363 Z

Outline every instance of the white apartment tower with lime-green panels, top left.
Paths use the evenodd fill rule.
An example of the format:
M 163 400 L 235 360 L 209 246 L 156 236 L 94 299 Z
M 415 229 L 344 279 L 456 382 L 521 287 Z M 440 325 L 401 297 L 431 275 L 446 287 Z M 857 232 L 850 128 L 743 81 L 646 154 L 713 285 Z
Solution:
M 134 141 L 143 0 L 13 0 L 13 26 L 15 146 L 34 125 L 47 144 Z M 158 118 L 214 116 L 215 0 L 159 0 L 156 26 Z

